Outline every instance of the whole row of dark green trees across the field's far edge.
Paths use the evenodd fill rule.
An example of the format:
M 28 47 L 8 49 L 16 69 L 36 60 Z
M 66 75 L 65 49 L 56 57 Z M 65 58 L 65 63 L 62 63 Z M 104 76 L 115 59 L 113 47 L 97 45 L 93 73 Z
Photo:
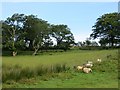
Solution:
M 84 46 L 120 46 L 120 13 L 108 13 L 97 18 L 90 37 L 84 42 L 74 41 L 74 36 L 67 25 L 54 25 L 35 15 L 15 13 L 2 24 L 2 49 L 12 51 L 13 56 L 18 50 L 70 49 L 72 45 Z M 1 37 L 0 37 L 1 38 Z M 96 41 L 99 39 L 99 44 Z M 56 43 L 56 44 L 55 44 Z

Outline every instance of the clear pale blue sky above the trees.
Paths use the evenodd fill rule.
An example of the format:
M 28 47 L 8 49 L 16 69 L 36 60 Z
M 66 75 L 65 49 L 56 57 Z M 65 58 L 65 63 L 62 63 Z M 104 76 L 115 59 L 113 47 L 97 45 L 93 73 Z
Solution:
M 118 12 L 118 2 L 2 2 L 2 20 L 14 13 L 37 15 L 51 24 L 68 25 L 75 41 L 84 41 L 92 33 L 96 19 Z

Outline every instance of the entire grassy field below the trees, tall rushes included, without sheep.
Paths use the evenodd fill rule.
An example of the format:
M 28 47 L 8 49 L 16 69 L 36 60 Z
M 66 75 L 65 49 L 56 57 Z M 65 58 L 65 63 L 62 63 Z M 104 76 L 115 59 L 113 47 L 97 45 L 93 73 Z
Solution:
M 92 67 L 92 73 L 86 74 L 73 68 L 74 65 L 83 64 L 86 61 L 82 58 L 84 54 L 88 56 L 86 60 L 92 59 L 93 61 L 94 66 Z M 96 62 L 98 57 L 94 54 L 101 56 L 101 63 Z M 73 59 L 72 55 L 77 57 Z M 119 79 L 117 55 L 117 50 L 102 50 L 93 52 L 81 51 L 81 53 L 78 51 L 61 52 L 52 56 L 49 54 L 43 55 L 41 56 L 42 58 L 33 56 L 32 60 L 38 58 L 37 60 L 41 63 L 39 65 L 34 63 L 34 67 L 32 67 L 31 64 L 24 66 L 24 63 L 19 63 L 21 58 L 25 58 L 26 56 L 14 57 L 15 60 L 18 58 L 16 62 L 12 57 L 11 60 L 13 60 L 12 63 L 14 64 L 10 64 L 11 60 L 8 60 L 8 58 L 11 57 L 3 57 L 3 88 L 117 88 Z M 61 63 L 60 60 L 64 60 L 62 58 L 63 56 L 66 62 Z M 68 56 L 70 57 L 68 58 Z M 57 62 L 52 60 L 52 57 L 54 57 L 54 59 L 56 58 L 55 60 L 57 60 Z M 49 58 L 48 60 L 51 60 L 51 63 L 45 58 Z M 43 59 L 45 59 L 45 63 L 42 61 Z M 71 59 L 73 59 L 73 61 Z M 29 60 L 29 63 L 32 60 Z M 77 61 L 76 64 L 73 63 L 75 61 Z M 36 60 L 34 60 L 34 62 L 36 62 Z

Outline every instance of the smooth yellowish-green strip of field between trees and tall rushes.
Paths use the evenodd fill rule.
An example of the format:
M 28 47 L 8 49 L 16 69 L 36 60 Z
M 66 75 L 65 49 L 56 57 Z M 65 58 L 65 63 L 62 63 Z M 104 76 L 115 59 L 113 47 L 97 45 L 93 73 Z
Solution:
M 68 51 L 68 52 L 57 52 L 48 53 L 46 55 L 39 56 L 16 56 L 16 57 L 2 57 L 3 65 L 15 65 L 19 64 L 23 67 L 30 66 L 35 67 L 38 65 L 51 65 L 56 63 L 66 63 L 67 65 L 81 65 L 84 62 L 91 60 L 96 61 L 98 58 L 106 60 L 107 55 L 116 56 L 118 50 L 95 50 L 95 51 Z M 50 55 L 49 55 L 50 54 Z M 52 55 L 51 55 L 52 54 Z

